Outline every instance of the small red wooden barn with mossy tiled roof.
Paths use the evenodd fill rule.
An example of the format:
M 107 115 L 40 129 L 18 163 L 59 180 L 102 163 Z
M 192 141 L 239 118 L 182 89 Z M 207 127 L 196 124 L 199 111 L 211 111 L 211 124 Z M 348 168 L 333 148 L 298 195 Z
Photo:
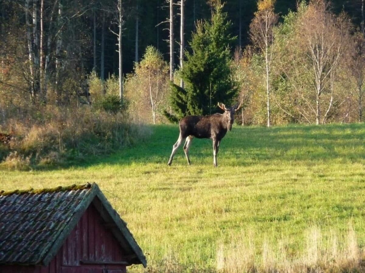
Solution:
M 1 273 L 122 273 L 146 258 L 94 184 L 0 192 Z

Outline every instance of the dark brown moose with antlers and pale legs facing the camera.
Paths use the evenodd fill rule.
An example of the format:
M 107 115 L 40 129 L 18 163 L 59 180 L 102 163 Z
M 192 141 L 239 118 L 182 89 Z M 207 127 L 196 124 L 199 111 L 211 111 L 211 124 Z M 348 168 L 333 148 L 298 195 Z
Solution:
M 170 166 L 172 159 L 178 147 L 184 144 L 184 153 L 190 165 L 189 148 L 193 137 L 196 138 L 211 138 L 213 141 L 213 165 L 217 167 L 217 154 L 220 141 L 226 135 L 227 130 L 232 130 L 234 121 L 234 113 L 241 107 L 241 104 L 236 104 L 233 107 L 227 108 L 223 103 L 218 103 L 218 107 L 224 111 L 224 114 L 213 114 L 209 116 L 185 116 L 179 122 L 180 134 L 176 143 L 172 146 L 172 153 L 168 162 Z

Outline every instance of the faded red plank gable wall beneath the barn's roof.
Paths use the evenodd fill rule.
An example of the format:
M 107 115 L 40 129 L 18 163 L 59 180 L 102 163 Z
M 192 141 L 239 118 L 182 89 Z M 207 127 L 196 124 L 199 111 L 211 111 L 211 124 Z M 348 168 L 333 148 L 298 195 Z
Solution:
M 48 266 L 0 265 L 0 273 L 124 273 L 125 265 L 108 265 L 123 261 L 121 246 L 91 204 Z M 81 264 L 104 261 L 105 265 Z

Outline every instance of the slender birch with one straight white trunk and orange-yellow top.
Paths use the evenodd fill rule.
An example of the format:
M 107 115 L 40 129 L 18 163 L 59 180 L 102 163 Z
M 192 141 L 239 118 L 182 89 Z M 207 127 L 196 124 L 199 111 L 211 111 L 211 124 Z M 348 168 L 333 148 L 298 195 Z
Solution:
M 258 11 L 250 24 L 250 36 L 265 58 L 267 127 L 270 127 L 270 72 L 274 55 L 273 28 L 278 15 L 274 12 L 275 0 L 259 0 Z

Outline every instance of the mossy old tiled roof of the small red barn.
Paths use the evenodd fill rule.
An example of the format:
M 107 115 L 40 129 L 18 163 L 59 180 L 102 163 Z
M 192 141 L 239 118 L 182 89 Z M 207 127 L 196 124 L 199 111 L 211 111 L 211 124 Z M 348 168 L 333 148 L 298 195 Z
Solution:
M 145 256 L 126 223 L 94 184 L 0 191 L 0 264 L 47 264 L 97 197 L 138 261 Z

